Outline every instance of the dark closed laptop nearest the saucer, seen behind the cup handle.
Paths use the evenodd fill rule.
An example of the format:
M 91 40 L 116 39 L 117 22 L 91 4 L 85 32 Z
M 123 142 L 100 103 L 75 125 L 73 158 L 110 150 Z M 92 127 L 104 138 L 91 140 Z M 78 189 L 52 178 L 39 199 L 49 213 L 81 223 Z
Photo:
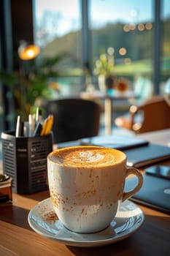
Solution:
M 136 184 L 136 177 L 128 178 L 125 191 Z M 144 184 L 131 200 L 144 206 L 170 214 L 170 180 L 144 174 Z

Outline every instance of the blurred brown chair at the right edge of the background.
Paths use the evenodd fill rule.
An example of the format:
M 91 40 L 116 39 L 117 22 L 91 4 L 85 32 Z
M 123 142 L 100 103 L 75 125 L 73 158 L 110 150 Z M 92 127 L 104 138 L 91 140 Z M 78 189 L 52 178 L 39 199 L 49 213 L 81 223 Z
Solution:
M 128 115 L 115 118 L 117 127 L 136 133 L 170 128 L 170 106 L 163 96 L 147 99 L 142 105 L 132 105 Z

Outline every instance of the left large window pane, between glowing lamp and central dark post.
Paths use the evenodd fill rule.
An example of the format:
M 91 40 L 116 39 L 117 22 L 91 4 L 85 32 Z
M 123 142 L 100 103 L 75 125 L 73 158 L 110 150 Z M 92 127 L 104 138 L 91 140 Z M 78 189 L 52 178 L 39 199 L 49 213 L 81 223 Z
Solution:
M 61 73 L 58 83 L 64 95 L 80 91 L 81 26 L 79 0 L 34 1 L 35 42 L 41 47 L 42 57 L 63 56 L 57 69 Z

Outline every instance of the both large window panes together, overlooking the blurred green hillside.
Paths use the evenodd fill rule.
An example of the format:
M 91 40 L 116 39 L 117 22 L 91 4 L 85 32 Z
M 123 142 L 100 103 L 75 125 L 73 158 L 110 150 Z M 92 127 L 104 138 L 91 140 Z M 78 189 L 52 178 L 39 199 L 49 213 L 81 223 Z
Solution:
M 81 74 L 82 3 L 84 2 L 78 0 L 69 1 L 69 4 L 66 0 L 35 1 L 36 42 L 41 45 L 44 56 L 53 56 L 55 53 L 67 54 L 62 66 L 65 77 L 68 74 Z M 128 78 L 131 86 L 138 86 L 140 89 L 139 81 L 144 81 L 147 89 L 143 96 L 150 97 L 153 84 L 155 1 L 89 0 L 87 3 L 90 29 L 88 63 L 92 71 L 94 61 L 101 51 L 112 47 L 117 77 Z

